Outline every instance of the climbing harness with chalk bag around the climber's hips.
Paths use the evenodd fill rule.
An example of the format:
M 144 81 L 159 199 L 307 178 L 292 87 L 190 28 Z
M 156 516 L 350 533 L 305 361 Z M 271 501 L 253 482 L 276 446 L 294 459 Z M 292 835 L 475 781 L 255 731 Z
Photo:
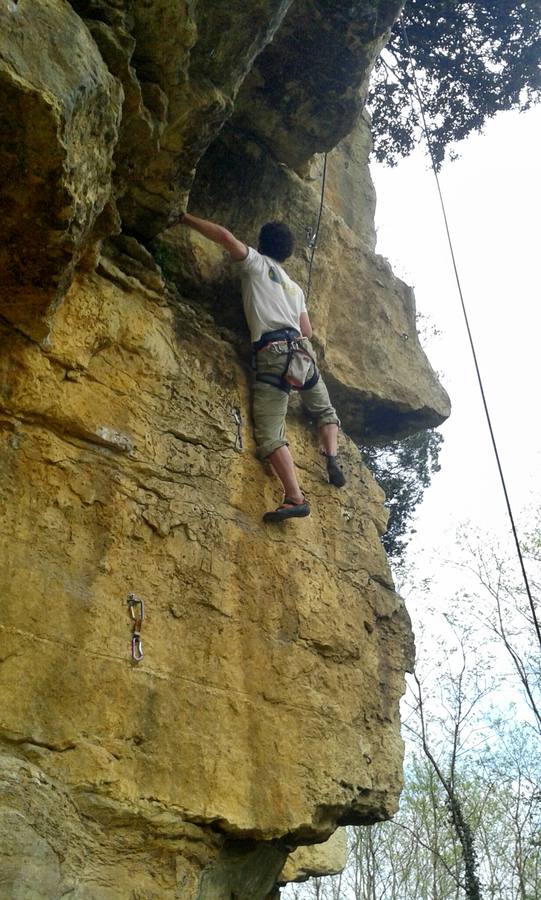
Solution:
M 291 389 L 296 391 L 309 391 L 319 381 L 319 371 L 316 362 L 303 346 L 303 338 L 295 328 L 281 328 L 278 331 L 267 331 L 261 338 L 252 344 L 254 369 L 256 381 L 272 384 L 273 387 L 289 394 Z M 276 353 L 287 354 L 285 366 L 281 375 L 271 372 L 259 372 L 257 370 L 257 354 L 261 350 L 272 347 Z M 314 372 L 307 378 L 310 368 Z

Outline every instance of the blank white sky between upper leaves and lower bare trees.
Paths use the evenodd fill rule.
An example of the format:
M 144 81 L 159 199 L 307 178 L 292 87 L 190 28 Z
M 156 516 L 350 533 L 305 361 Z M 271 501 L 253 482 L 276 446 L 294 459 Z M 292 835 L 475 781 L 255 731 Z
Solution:
M 541 109 L 502 113 L 457 146 L 440 175 L 462 289 L 515 516 L 541 499 Z M 452 556 L 457 526 L 509 530 L 432 171 L 419 149 L 395 169 L 372 166 L 377 250 L 415 289 L 441 331 L 428 355 L 451 396 L 442 471 L 416 523 L 411 554 Z M 511 549 L 511 545 L 510 545 Z M 430 562 L 432 560 L 432 563 Z M 427 568 L 428 567 L 428 568 Z

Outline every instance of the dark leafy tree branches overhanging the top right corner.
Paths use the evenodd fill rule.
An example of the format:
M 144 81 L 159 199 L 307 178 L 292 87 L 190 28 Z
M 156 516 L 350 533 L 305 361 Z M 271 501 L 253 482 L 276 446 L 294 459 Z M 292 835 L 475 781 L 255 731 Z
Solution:
M 407 41 L 438 165 L 449 144 L 495 113 L 541 98 L 539 0 L 409 0 L 403 21 L 405 32 L 396 22 L 376 65 L 369 98 L 378 160 L 393 165 L 418 140 Z

